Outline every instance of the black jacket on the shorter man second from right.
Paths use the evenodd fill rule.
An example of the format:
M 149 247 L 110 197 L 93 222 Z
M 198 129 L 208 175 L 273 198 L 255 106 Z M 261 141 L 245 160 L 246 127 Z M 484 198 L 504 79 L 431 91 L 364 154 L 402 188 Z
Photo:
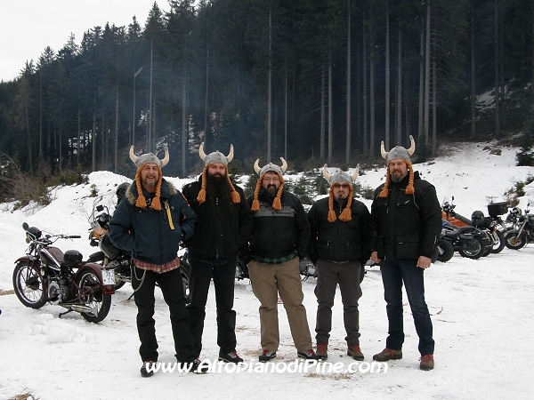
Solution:
M 347 199 L 340 205 L 334 200 L 336 220 L 328 222 L 328 197 L 316 201 L 308 212 L 310 240 L 308 257 L 315 263 L 318 259 L 344 262 L 359 260 L 365 265 L 369 251 L 370 214 L 365 204 L 352 199 L 352 220 L 339 220 L 339 214 L 346 207 Z

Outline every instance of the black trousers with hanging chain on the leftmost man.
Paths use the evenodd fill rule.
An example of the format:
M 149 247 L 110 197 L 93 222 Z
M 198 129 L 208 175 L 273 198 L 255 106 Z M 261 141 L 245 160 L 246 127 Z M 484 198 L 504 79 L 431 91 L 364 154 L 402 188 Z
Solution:
M 145 273 L 144 278 L 142 278 L 143 273 Z M 141 286 L 140 280 L 142 280 Z M 158 340 L 156 340 L 156 321 L 154 320 L 154 304 L 156 301 L 154 288 L 156 283 L 158 283 L 163 293 L 163 298 L 169 307 L 175 356 L 182 363 L 190 363 L 197 355 L 190 332 L 187 309 L 185 308 L 182 275 L 178 268 L 163 274 L 134 268 L 132 286 L 134 289 L 139 288 L 134 297 L 135 305 L 137 306 L 137 332 L 141 340 L 139 354 L 142 361 L 158 361 Z

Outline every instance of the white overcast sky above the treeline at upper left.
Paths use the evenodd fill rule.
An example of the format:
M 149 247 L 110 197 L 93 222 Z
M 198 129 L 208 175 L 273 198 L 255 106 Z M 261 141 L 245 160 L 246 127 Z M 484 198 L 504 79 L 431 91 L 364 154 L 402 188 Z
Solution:
M 167 0 L 0 0 L 0 81 L 20 75 L 46 46 L 57 54 L 74 33 L 80 44 L 95 26 L 127 26 L 132 18 L 144 28 L 152 4 L 168 12 Z

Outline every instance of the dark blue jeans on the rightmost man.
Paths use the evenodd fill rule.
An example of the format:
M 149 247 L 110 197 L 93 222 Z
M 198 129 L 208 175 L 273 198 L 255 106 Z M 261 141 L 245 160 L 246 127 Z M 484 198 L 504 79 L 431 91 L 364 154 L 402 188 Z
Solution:
M 402 283 L 404 282 L 409 307 L 419 336 L 419 353 L 421 355 L 433 354 L 432 321 L 425 302 L 425 269 L 417 267 L 417 260 L 380 260 L 380 271 L 389 321 L 386 348 L 400 350 L 404 342 L 402 320 Z

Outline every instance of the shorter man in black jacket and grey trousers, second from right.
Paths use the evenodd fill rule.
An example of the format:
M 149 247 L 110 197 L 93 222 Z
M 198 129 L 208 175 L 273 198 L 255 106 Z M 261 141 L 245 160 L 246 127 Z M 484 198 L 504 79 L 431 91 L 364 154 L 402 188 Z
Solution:
M 360 166 L 359 166 L 360 167 Z M 308 212 L 310 240 L 308 256 L 317 270 L 317 322 L 315 339 L 317 355 L 328 358 L 328 339 L 332 329 L 332 306 L 339 284 L 344 309 L 347 356 L 363 361 L 360 350 L 360 282 L 365 273 L 364 265 L 369 258 L 368 227 L 369 212 L 365 204 L 352 196 L 352 182 L 358 178 L 359 167 L 348 172 L 323 175 L 330 184 L 328 197 L 312 205 Z

